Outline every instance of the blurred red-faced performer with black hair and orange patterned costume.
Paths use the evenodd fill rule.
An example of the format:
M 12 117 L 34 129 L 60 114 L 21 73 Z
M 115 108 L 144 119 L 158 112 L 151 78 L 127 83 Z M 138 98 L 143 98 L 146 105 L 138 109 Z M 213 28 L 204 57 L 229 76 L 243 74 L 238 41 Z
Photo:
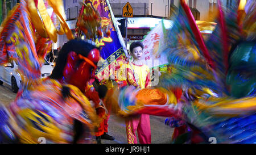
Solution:
M 7 118 L 3 125 L 10 130 L 3 130 L 0 139 L 4 143 L 39 143 L 40 137 L 45 143 L 93 143 L 98 118 L 82 92 L 99 55 L 94 45 L 82 40 L 64 44 L 51 76 L 20 91 L 10 104 L 10 114 L 1 112 Z

